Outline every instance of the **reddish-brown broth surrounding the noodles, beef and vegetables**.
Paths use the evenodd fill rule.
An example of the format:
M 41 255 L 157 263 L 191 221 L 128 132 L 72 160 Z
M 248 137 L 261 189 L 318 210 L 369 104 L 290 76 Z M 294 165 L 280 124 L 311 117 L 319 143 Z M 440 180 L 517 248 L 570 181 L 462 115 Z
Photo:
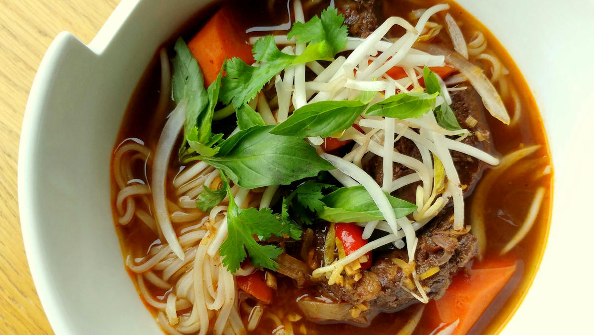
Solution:
M 379 2 L 379 1 L 378 1 Z M 460 28 L 465 36 L 472 36 L 476 31 L 482 32 L 487 41 L 487 48 L 484 52 L 495 55 L 509 71 L 507 74 L 508 87 L 516 90 L 518 93 L 522 113 L 517 123 L 512 126 L 505 126 L 500 121 L 492 117 L 487 117 L 488 124 L 491 130 L 491 139 L 495 150 L 501 155 L 508 154 L 519 148 L 540 145 L 538 151 L 530 156 L 530 159 L 520 161 L 519 164 L 513 165 L 507 170 L 495 183 L 488 192 L 483 194 L 473 193 L 466 198 L 466 217 L 470 217 L 470 208 L 472 208 L 473 201 L 478 197 L 484 197 L 485 203 L 488 206 L 484 208 L 485 231 L 488 243 L 486 245 L 486 252 L 482 260 L 475 259 L 471 268 L 481 268 L 482 265 L 492 261 L 500 263 L 516 262 L 518 270 L 513 275 L 511 280 L 507 283 L 500 294 L 489 305 L 486 311 L 479 318 L 478 322 L 470 330 L 469 334 L 495 334 L 498 333 L 507 321 L 516 311 L 522 299 L 526 295 L 527 290 L 532 284 L 536 270 L 538 270 L 541 262 L 542 254 L 545 248 L 546 237 L 549 230 L 549 221 L 551 217 L 551 202 L 552 202 L 552 168 L 551 155 L 549 153 L 548 143 L 544 126 L 542 124 L 541 115 L 536 107 L 535 100 L 530 92 L 526 81 L 517 68 L 510 55 L 507 54 L 503 46 L 498 40 L 471 14 L 466 12 L 462 7 L 452 1 L 434 1 L 434 0 L 416 0 L 416 1 L 396 1 L 386 0 L 381 4 L 381 8 L 377 8 L 381 13 L 380 21 L 383 18 L 397 15 L 409 19 L 409 13 L 419 8 L 428 8 L 431 5 L 446 2 L 450 4 L 451 9 L 448 11 L 459 22 Z M 287 5 L 282 1 L 277 1 L 273 12 L 276 13 L 271 16 L 264 3 L 256 2 L 256 5 L 246 5 L 242 2 L 235 4 L 239 11 L 248 13 L 242 15 L 245 22 L 246 29 L 249 27 L 256 27 L 252 30 L 270 29 L 267 32 L 252 32 L 251 35 L 258 36 L 264 33 L 274 33 L 274 28 L 282 27 L 283 23 L 289 21 L 287 16 Z M 321 2 L 317 5 L 307 7 L 306 19 L 312 15 L 317 14 L 321 8 L 327 6 L 327 2 Z M 215 6 L 216 7 L 216 6 Z M 214 7 L 213 7 L 214 8 Z M 204 18 L 207 18 L 213 12 L 213 8 L 200 12 L 194 20 L 191 20 L 184 29 L 181 35 L 191 37 L 204 23 Z M 437 14 L 432 21 L 445 26 L 444 15 Z M 264 27 L 264 28 L 263 28 Z M 433 43 L 452 49 L 450 37 L 443 29 Z M 279 31 L 278 33 L 286 33 Z M 402 32 L 392 32 L 400 35 Z M 170 42 L 165 43 L 165 46 L 170 46 L 172 41 L 180 34 L 172 36 Z M 187 38 L 188 39 L 188 38 Z M 170 55 L 173 54 L 171 48 Z M 474 57 L 470 57 L 470 61 L 475 64 L 482 65 L 488 76 L 491 75 L 491 68 L 489 64 L 477 61 Z M 165 118 L 163 115 L 154 115 L 155 107 L 159 99 L 160 87 L 160 66 L 159 60 L 156 56 L 149 64 L 146 73 L 138 83 L 137 89 L 132 96 L 128 110 L 122 121 L 121 129 L 119 131 L 117 144 L 124 142 L 129 138 L 142 140 L 147 147 L 154 150 L 160 130 L 163 128 Z M 500 87 L 498 87 L 499 89 Z M 504 104 L 511 115 L 516 109 L 513 97 L 508 95 L 502 96 Z M 171 104 L 169 110 L 173 108 Z M 172 159 L 169 165 L 169 178 L 175 177 L 178 173 L 181 164 L 176 159 Z M 144 164 L 138 162 L 133 167 L 137 173 L 144 176 Z M 489 176 L 491 171 L 487 170 L 484 177 Z M 479 185 L 481 181 L 479 181 Z M 510 252 L 501 256 L 500 251 L 505 244 L 510 240 L 518 230 L 519 224 L 522 223 L 526 217 L 527 210 L 532 202 L 532 198 L 536 189 L 545 187 L 546 193 L 536 222 L 530 229 L 527 236 Z M 476 188 L 475 188 L 476 189 Z M 113 181 L 112 176 L 112 203 L 114 217 L 116 217 L 115 209 L 115 195 L 118 188 Z M 140 206 L 144 206 L 142 203 Z M 127 226 L 121 226 L 116 223 L 116 230 L 121 240 L 122 251 L 124 254 L 131 254 L 138 257 L 146 255 L 152 243 L 155 242 L 156 237 L 153 232 L 149 230 L 146 225 L 138 222 L 134 218 Z M 468 223 L 467 223 L 468 224 Z M 465 275 L 460 273 L 459 275 Z M 132 280 L 135 282 L 135 275 L 131 273 Z M 148 287 L 151 294 L 160 302 L 165 302 L 165 290 L 157 289 L 153 286 Z M 301 311 L 296 305 L 296 300 L 304 295 L 317 296 L 319 292 L 315 289 L 297 289 L 292 281 L 286 278 L 279 278 L 278 289 L 276 296 L 270 305 L 266 306 L 266 311 L 274 311 L 277 315 L 301 315 Z M 147 308 L 156 314 L 156 310 L 148 305 Z M 301 318 L 293 322 L 293 330 L 296 334 L 325 334 L 328 332 L 340 333 L 341 335 L 349 334 L 396 334 L 400 328 L 409 320 L 411 315 L 418 308 L 418 304 L 412 305 L 402 311 L 391 314 L 379 314 L 374 318 L 369 328 L 356 327 L 349 324 L 317 324 Z M 435 310 L 431 308 L 431 303 L 425 309 L 421 321 L 416 327 L 413 334 L 429 334 L 439 326 L 435 316 Z M 258 328 L 251 333 L 253 334 L 273 334 L 276 325 L 270 320 L 263 318 Z M 305 329 L 305 332 L 304 332 Z

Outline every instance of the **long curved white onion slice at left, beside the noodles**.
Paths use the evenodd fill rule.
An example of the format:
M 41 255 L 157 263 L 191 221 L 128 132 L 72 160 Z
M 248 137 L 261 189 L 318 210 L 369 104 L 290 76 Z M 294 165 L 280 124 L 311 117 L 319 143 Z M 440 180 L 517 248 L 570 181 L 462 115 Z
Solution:
M 166 189 L 165 181 L 167 178 L 167 167 L 169 165 L 169 158 L 175 146 L 178 134 L 185 122 L 185 109 L 187 101 L 181 101 L 178 106 L 173 109 L 169 120 L 163 127 L 163 132 L 157 142 L 157 149 L 154 155 L 153 163 L 153 206 L 155 210 L 155 217 L 159 228 L 169 243 L 172 251 L 184 259 L 184 251 L 179 245 L 178 237 L 173 231 L 173 226 L 169 220 L 169 214 L 166 205 Z

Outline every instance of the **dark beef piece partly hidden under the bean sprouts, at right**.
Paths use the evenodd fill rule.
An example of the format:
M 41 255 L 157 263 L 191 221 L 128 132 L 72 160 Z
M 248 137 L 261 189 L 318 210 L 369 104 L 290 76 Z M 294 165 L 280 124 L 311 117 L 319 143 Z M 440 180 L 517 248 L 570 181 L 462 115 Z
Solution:
M 452 100 L 451 108 L 453 109 L 454 114 L 456 114 L 458 123 L 461 127 L 464 127 L 470 130 L 470 132 L 474 133 L 473 136 L 466 137 L 466 139 L 463 139 L 462 142 L 481 149 L 482 151 L 494 152 L 489 138 L 489 127 L 485 118 L 486 111 L 484 105 L 482 104 L 481 96 L 476 93 L 476 90 L 473 89 L 470 84 L 467 84 L 466 87 L 467 89 L 465 90 L 459 90 L 450 93 Z M 466 124 L 466 120 L 469 117 L 473 117 L 476 121 L 478 121 L 472 128 Z M 478 132 L 481 133 L 481 136 L 484 137 L 484 140 L 479 140 L 479 136 L 477 136 Z M 421 154 L 419 153 L 419 150 L 416 148 L 415 143 L 409 139 L 401 137 L 398 142 L 395 143 L 394 148 L 396 151 L 400 152 L 400 154 L 412 156 L 413 158 L 421 160 Z M 458 171 L 460 183 L 462 185 L 466 185 L 464 189 L 464 193 L 466 194 L 473 189 L 476 181 L 478 181 L 481 177 L 482 171 L 486 167 L 486 163 L 457 151 L 451 151 L 451 156 L 454 161 L 454 165 L 456 166 L 456 171 Z M 364 170 L 370 176 L 374 177 L 378 184 L 382 184 L 383 158 L 380 156 L 374 156 L 373 158 L 369 159 L 369 161 L 364 165 Z M 407 168 L 402 164 L 393 164 L 394 180 L 413 172 L 414 171 L 412 169 Z M 402 189 L 396 190 L 396 192 L 392 193 L 392 195 L 414 203 L 416 187 L 420 184 L 420 181 L 410 184 L 406 187 L 403 187 Z

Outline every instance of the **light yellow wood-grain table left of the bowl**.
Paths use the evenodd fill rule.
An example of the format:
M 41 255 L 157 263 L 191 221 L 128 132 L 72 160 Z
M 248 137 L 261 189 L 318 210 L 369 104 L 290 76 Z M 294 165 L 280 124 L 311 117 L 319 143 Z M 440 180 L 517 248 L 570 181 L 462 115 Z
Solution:
M 89 43 L 118 0 L 0 0 L 0 334 L 53 334 L 25 256 L 17 157 L 33 77 L 62 30 Z

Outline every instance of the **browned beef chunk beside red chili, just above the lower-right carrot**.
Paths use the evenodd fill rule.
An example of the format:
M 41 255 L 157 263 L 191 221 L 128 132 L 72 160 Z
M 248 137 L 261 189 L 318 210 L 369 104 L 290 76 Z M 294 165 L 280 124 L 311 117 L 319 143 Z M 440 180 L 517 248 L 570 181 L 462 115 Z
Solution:
M 441 298 L 451 284 L 451 277 L 465 267 L 477 252 L 476 237 L 467 233 L 451 233 L 452 223 L 452 211 L 443 211 L 419 236 L 415 252 L 417 273 L 422 274 L 433 267 L 440 268 L 438 273 L 421 280 L 423 286 L 429 287 L 427 295 L 430 299 Z M 405 250 L 396 250 L 378 258 L 352 289 L 326 283 L 322 283 L 321 287 L 340 301 L 353 305 L 366 302 L 371 308 L 383 311 L 403 308 L 414 303 L 415 298 L 401 287 L 400 281 L 404 274 L 391 260 L 394 257 L 408 261 Z

